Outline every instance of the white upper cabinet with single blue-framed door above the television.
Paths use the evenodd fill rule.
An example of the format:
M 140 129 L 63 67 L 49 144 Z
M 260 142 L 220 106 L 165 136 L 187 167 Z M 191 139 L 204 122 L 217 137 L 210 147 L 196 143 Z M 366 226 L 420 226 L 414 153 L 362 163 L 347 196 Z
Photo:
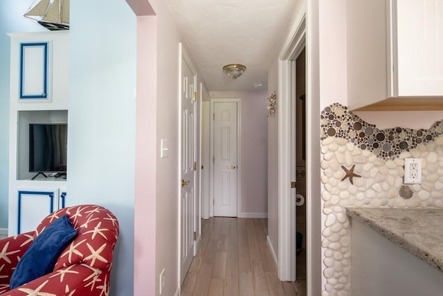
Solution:
M 69 32 L 8 35 L 11 110 L 67 110 Z

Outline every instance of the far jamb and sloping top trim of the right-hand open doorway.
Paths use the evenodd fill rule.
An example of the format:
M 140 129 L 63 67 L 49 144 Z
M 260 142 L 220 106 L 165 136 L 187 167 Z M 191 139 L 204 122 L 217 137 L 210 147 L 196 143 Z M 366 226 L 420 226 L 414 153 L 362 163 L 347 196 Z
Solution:
M 292 63 L 305 47 L 306 10 L 297 17 L 278 62 L 278 277 L 291 281 L 291 81 Z M 308 94 L 309 96 L 309 94 Z M 309 150 L 309 147 L 307 148 Z M 309 271 L 307 273 L 309 277 Z

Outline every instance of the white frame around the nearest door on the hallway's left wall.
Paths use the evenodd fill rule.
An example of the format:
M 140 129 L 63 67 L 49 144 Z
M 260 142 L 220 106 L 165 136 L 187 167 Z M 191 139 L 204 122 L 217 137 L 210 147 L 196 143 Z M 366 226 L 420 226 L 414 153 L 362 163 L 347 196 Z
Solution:
M 182 284 L 182 281 L 181 281 L 181 250 L 182 250 L 182 245 L 181 245 L 181 150 L 183 149 L 183 143 L 182 143 L 182 141 L 181 141 L 181 139 L 182 139 L 182 137 L 181 137 L 181 131 L 182 131 L 182 119 L 181 119 L 181 101 L 182 101 L 182 98 L 181 98 L 181 88 L 182 88 L 182 80 L 181 80 L 181 73 L 182 73 L 182 71 L 183 71 L 183 68 L 182 68 L 182 60 L 185 60 L 186 61 L 186 64 L 188 64 L 188 67 L 190 68 L 190 70 L 192 71 L 192 73 L 194 73 L 194 90 L 195 90 L 195 92 L 197 92 L 197 94 L 198 94 L 198 89 L 197 89 L 197 69 L 195 68 L 195 66 L 194 66 L 194 64 L 192 63 L 192 60 L 189 58 L 189 55 L 188 55 L 188 53 L 186 53 L 186 49 L 184 49 L 184 47 L 183 47 L 183 44 L 180 42 L 179 43 L 179 151 L 177 152 L 178 153 L 178 164 L 179 164 L 179 166 L 178 166 L 178 168 L 177 168 L 177 171 L 178 171 L 178 179 L 177 179 L 177 188 L 178 188 L 178 198 L 179 198 L 179 201 L 178 201 L 178 209 L 177 209 L 177 211 L 178 211 L 178 219 L 177 219 L 177 223 L 178 223 L 178 238 L 179 238 L 179 248 L 178 248 L 178 252 L 177 252 L 177 256 L 178 256 L 178 285 L 179 285 L 179 287 L 181 287 L 181 284 Z M 198 128 L 197 128 L 197 101 L 195 101 L 195 104 L 194 104 L 194 139 L 195 139 L 195 141 L 196 141 L 196 143 L 194 143 L 194 147 L 195 147 L 195 151 L 193 152 L 194 153 L 194 158 L 195 158 L 195 161 L 197 162 L 197 157 L 196 157 L 196 155 L 197 155 L 197 130 L 198 130 Z M 197 180 L 197 171 L 198 170 L 194 170 L 194 181 L 195 180 Z M 197 216 L 197 209 L 195 208 L 196 207 L 196 204 L 197 204 L 197 186 L 195 186 L 195 183 L 196 182 L 193 182 L 192 183 L 192 186 L 194 187 L 193 188 L 193 191 L 194 191 L 194 196 L 193 196 L 193 198 L 194 198 L 194 202 L 193 202 L 193 204 L 194 204 L 194 215 L 195 216 Z M 192 231 L 193 232 L 197 232 L 197 225 L 196 225 L 196 219 L 195 219 L 195 216 L 192 218 Z M 195 256 L 195 253 L 196 253 L 196 250 L 197 250 L 197 243 L 198 243 L 198 241 L 197 240 L 194 240 L 193 241 L 193 243 L 192 243 L 192 256 Z M 183 279 L 184 279 L 184 276 L 183 276 Z

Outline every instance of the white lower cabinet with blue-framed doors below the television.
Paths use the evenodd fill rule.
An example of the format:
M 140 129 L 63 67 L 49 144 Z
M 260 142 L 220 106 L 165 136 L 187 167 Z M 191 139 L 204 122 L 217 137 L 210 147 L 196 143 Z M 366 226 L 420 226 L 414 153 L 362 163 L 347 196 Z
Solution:
M 65 204 L 66 189 L 19 189 L 17 211 L 14 215 L 17 219 L 14 223 L 16 228 L 10 227 L 10 235 L 35 230 L 48 214 L 62 209 Z

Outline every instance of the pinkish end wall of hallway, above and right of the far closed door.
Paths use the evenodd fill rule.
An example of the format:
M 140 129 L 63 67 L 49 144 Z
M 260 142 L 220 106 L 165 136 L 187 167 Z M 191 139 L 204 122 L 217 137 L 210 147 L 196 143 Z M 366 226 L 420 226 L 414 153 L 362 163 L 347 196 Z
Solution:
M 267 214 L 266 91 L 210 92 L 210 98 L 240 98 L 242 176 L 240 214 Z M 242 216 L 242 215 L 240 215 Z

